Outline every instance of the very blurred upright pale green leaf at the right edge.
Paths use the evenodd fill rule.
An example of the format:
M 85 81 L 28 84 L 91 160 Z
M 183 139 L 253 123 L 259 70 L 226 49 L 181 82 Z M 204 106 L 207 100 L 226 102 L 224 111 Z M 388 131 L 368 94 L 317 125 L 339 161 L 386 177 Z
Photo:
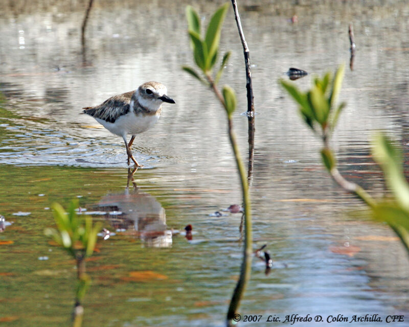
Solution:
M 402 155 L 399 149 L 392 145 L 388 137 L 378 133 L 374 137 L 373 155 L 381 166 L 396 201 L 409 211 L 409 185 L 403 175 Z

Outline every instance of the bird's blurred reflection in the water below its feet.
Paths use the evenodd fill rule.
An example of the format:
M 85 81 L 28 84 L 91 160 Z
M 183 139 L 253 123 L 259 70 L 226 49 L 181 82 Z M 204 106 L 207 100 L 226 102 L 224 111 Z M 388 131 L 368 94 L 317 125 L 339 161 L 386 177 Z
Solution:
M 166 225 L 165 209 L 155 197 L 140 192 L 133 175 L 137 168 L 128 168 L 128 181 L 125 192 L 108 194 L 95 208 L 117 231 L 138 236 L 147 246 L 172 246 L 172 231 Z M 132 183 L 133 188 L 129 189 Z

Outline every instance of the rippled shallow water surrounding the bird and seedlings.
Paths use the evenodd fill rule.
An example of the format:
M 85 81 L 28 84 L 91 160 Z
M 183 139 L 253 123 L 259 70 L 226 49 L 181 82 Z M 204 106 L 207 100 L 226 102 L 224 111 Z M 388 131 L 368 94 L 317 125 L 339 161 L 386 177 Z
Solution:
M 221 326 L 240 266 L 240 214 L 210 215 L 240 203 L 240 191 L 224 113 L 210 91 L 180 69 L 192 64 L 185 4 L 97 2 L 82 49 L 84 8 L 17 1 L 0 13 L 0 214 L 13 222 L 0 234 L 0 241 L 13 242 L 0 245 L 0 319 L 11 326 L 70 325 L 74 263 L 47 243 L 43 229 L 53 225 L 52 202 L 66 206 L 77 198 L 87 211 L 107 212 L 94 217 L 117 233 L 101 241 L 96 260 L 87 263 L 94 284 L 84 301 L 84 325 Z M 198 8 L 206 23 L 216 4 Z M 348 106 L 332 143 L 346 176 L 384 195 L 369 139 L 384 130 L 407 152 L 409 5 L 264 2 L 239 9 L 258 113 L 255 248 L 267 244 L 274 261 L 266 276 L 263 262 L 254 259 L 242 314 L 282 321 L 296 313 L 401 314 L 405 323 L 389 325 L 407 324 L 405 251 L 387 227 L 350 214 L 361 204 L 322 168 L 319 140 L 302 125 L 278 79 L 288 78 L 291 66 L 305 69 L 310 75 L 296 83 L 306 88 L 314 74 L 348 65 L 353 23 L 354 70 L 346 71 L 340 96 Z M 296 24 L 289 21 L 293 15 Z M 231 11 L 221 48 L 232 50 L 222 83 L 238 92 L 234 124 L 246 154 L 243 55 Z M 176 104 L 165 104 L 155 127 L 135 139 L 135 157 L 145 167 L 134 174 L 138 190 L 126 192 L 121 138 L 78 113 L 147 80 L 164 83 Z M 151 220 L 135 218 L 141 203 L 155 209 L 145 215 Z M 114 210 L 111 216 L 121 218 L 124 207 L 132 214 L 120 224 L 110 219 Z M 117 232 L 125 221 L 145 236 L 152 225 L 175 232 L 191 224 L 193 240 L 175 233 L 152 243 L 141 232 Z M 134 271 L 143 273 L 135 278 Z

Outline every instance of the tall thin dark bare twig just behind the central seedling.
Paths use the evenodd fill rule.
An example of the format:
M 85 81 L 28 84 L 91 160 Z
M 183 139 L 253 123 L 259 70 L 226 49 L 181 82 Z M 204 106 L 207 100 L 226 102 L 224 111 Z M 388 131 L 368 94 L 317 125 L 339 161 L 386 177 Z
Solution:
M 247 118 L 248 118 L 248 171 L 247 179 L 252 180 L 253 165 L 254 165 L 254 95 L 252 85 L 252 72 L 250 64 L 250 52 L 248 50 L 246 39 L 244 38 L 243 29 L 241 27 L 239 11 L 237 9 L 236 0 L 232 0 L 234 16 L 236 17 L 237 29 L 239 31 L 241 44 L 243 45 L 244 63 L 246 67 L 246 89 L 247 89 Z

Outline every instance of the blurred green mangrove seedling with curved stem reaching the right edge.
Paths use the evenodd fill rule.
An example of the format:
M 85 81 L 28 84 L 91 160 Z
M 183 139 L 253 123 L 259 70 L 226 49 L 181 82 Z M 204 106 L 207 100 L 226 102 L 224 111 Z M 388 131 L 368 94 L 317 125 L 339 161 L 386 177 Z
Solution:
M 333 78 L 330 73 L 323 78 L 316 77 L 312 88 L 306 92 L 284 80 L 281 80 L 281 85 L 298 103 L 300 114 L 307 126 L 322 139 L 322 161 L 334 181 L 365 202 L 374 220 L 389 224 L 409 254 L 409 184 L 403 175 L 399 149 L 382 133 L 377 133 L 373 139 L 372 153 L 383 171 L 392 194 L 391 199 L 374 199 L 361 186 L 346 180 L 338 171 L 329 139 L 339 114 L 345 107 L 345 103 L 336 105 L 343 77 L 344 65 L 337 69 Z

